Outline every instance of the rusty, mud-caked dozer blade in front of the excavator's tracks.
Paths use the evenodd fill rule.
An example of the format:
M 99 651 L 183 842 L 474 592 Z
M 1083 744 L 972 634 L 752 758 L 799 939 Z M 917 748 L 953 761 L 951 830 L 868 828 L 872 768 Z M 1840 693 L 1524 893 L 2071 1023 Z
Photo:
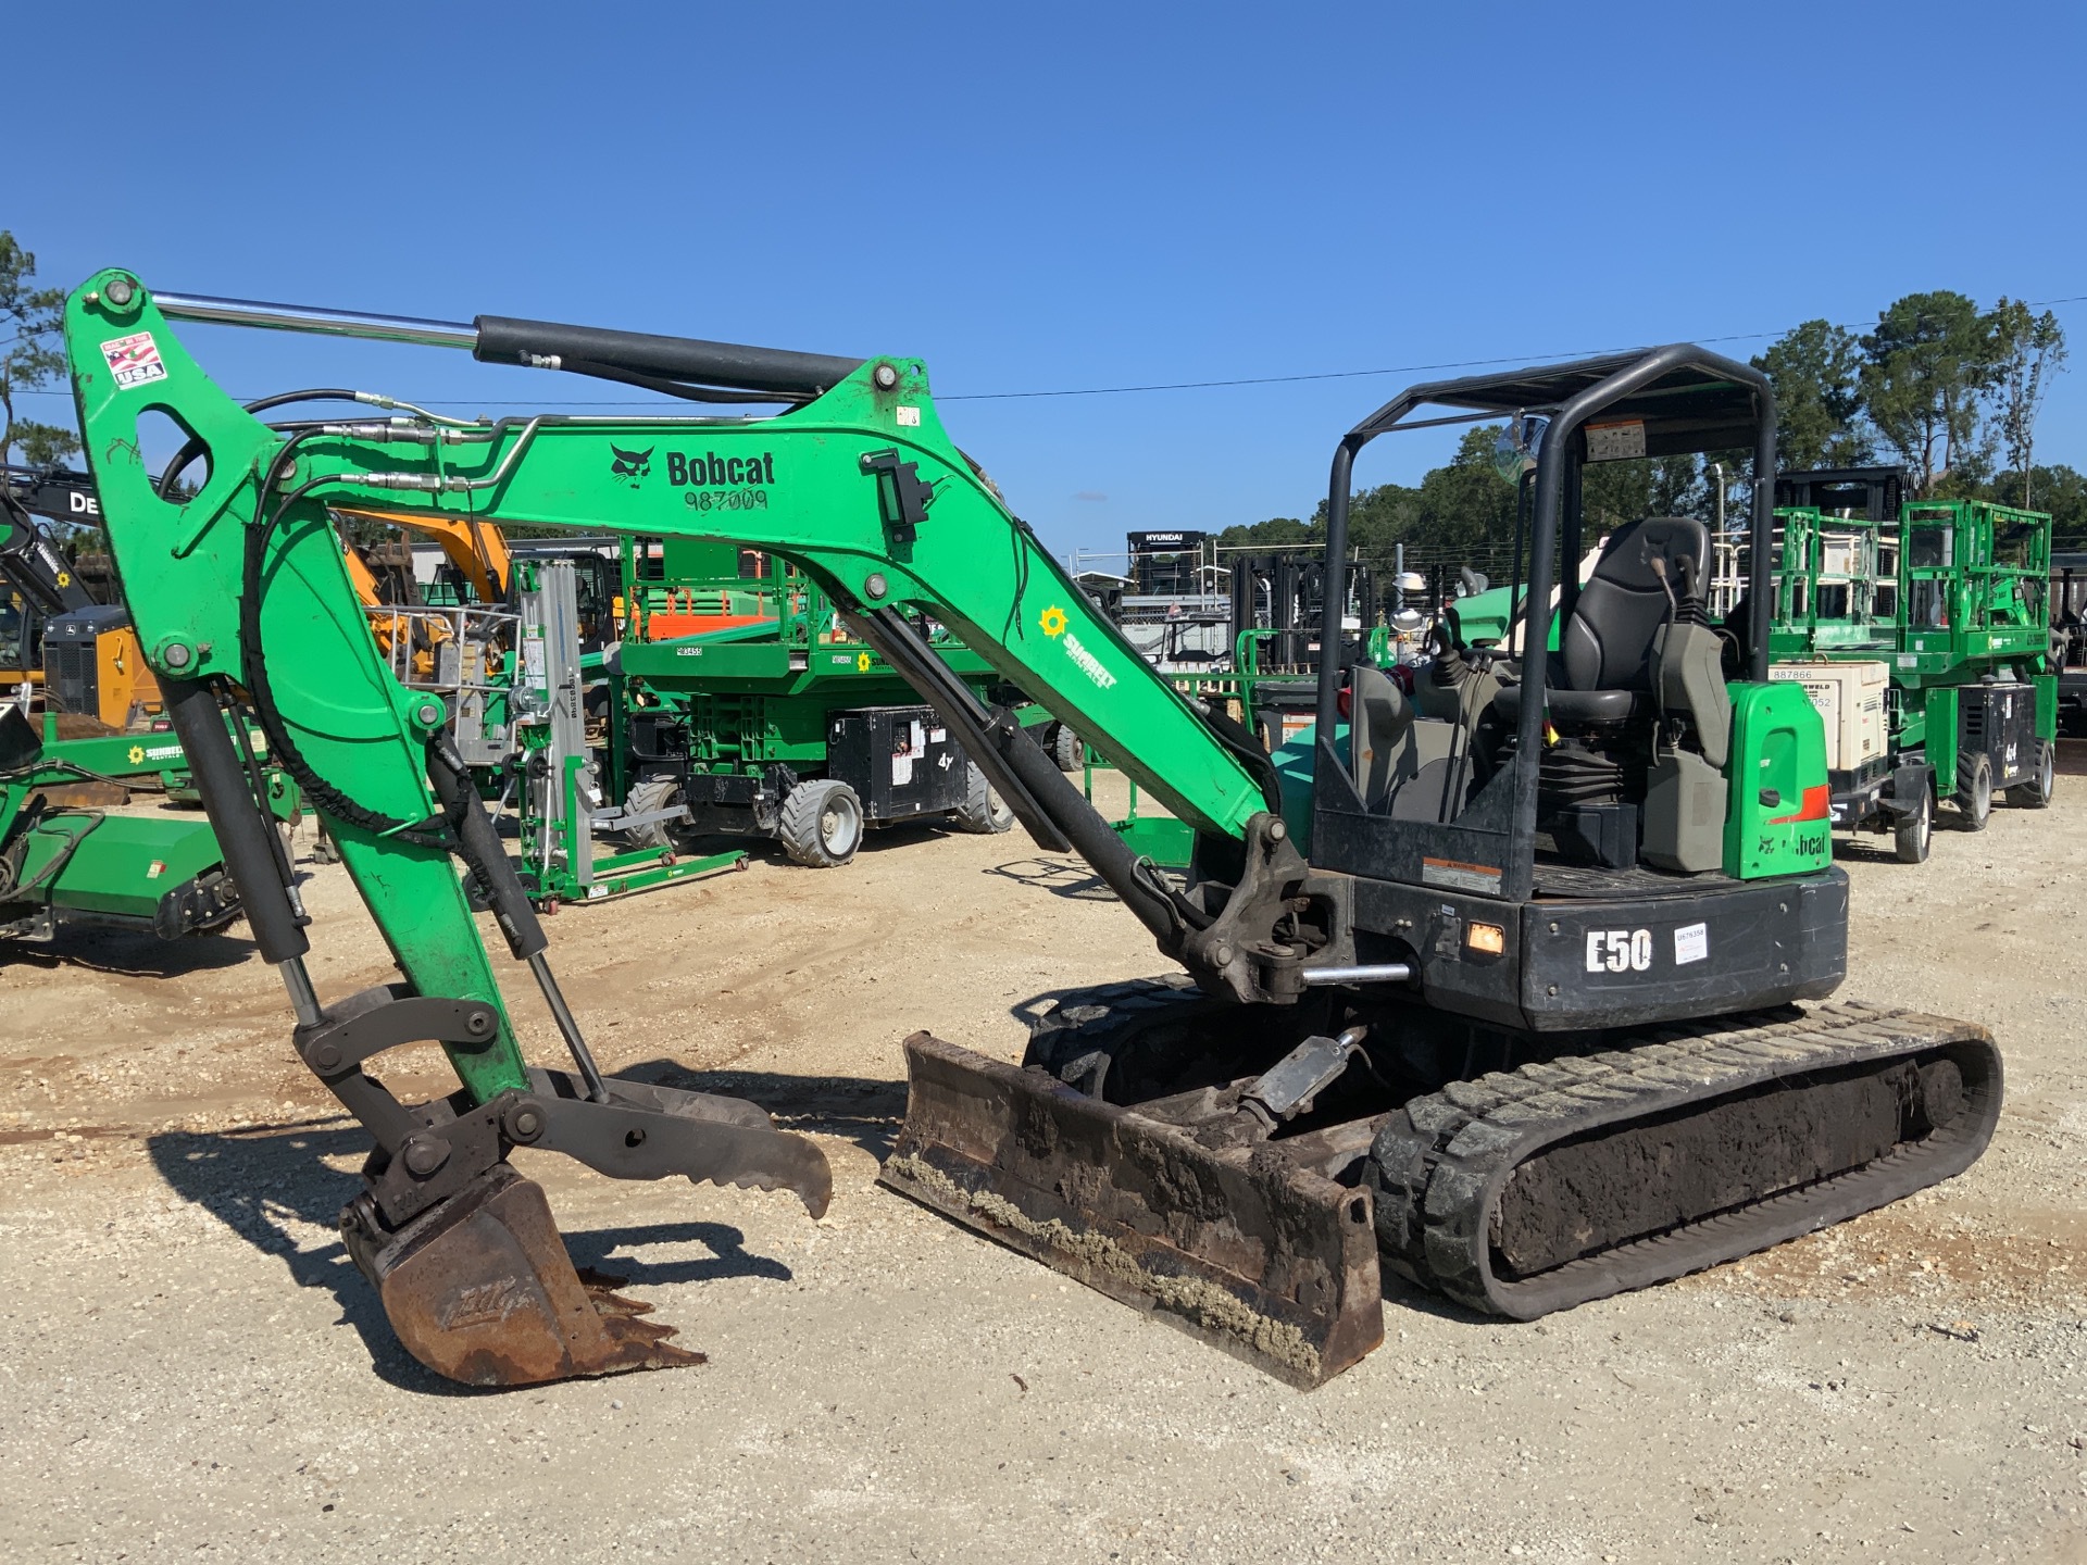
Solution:
M 1384 1340 L 1369 1194 L 929 1033 L 881 1183 L 1292 1386 Z

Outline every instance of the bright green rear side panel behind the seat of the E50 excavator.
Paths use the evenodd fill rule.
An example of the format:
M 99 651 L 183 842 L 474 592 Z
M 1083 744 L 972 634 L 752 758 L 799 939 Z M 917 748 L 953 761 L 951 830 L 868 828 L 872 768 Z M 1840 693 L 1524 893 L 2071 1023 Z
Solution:
M 1724 872 L 1734 881 L 1809 874 L 1832 862 L 1826 728 L 1801 684 L 1728 684 L 1732 782 Z

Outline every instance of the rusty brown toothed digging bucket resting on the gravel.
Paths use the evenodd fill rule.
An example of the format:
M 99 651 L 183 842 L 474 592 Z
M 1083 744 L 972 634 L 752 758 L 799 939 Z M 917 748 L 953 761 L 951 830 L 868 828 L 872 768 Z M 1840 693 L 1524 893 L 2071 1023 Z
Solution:
M 651 1306 L 614 1294 L 614 1279 L 582 1281 L 543 1187 L 505 1162 L 374 1250 L 355 1210 L 342 1214 L 349 1250 L 399 1342 L 436 1375 L 536 1386 L 703 1363 L 668 1342 L 674 1327 L 637 1319 Z

